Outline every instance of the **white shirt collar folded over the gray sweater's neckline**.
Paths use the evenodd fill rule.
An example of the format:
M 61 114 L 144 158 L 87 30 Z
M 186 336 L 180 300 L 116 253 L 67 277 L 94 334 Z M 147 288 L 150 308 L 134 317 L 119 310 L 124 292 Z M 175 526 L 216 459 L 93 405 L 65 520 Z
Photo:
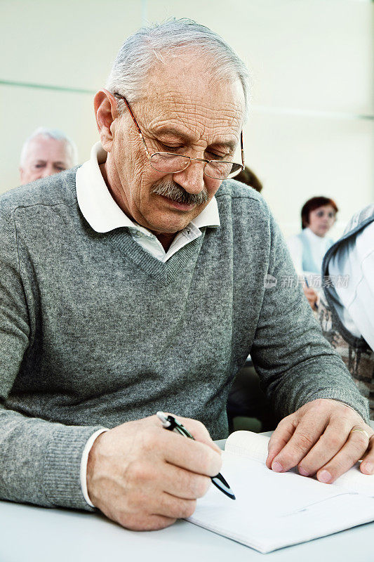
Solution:
M 140 232 L 149 234 L 149 230 L 123 213 L 116 204 L 100 171 L 100 164 L 107 159 L 107 152 L 101 143 L 96 143 L 91 149 L 91 157 L 76 171 L 76 197 L 79 209 L 88 224 L 97 233 L 107 233 L 120 227 L 135 228 Z M 220 226 L 220 215 L 215 197 L 207 204 L 205 209 L 194 218 L 186 227 L 203 228 L 203 226 Z

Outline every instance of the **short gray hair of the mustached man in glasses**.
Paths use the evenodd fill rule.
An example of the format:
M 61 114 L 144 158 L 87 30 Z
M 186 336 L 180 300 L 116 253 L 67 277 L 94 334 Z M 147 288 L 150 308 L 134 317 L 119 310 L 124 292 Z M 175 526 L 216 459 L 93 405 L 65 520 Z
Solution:
M 121 93 L 128 102 L 142 98 L 144 81 L 152 66 L 164 55 L 193 48 L 196 59 L 206 58 L 210 74 L 221 80 L 240 79 L 248 117 L 249 74 L 246 65 L 222 37 L 205 25 L 182 18 L 142 27 L 121 46 L 106 88 Z

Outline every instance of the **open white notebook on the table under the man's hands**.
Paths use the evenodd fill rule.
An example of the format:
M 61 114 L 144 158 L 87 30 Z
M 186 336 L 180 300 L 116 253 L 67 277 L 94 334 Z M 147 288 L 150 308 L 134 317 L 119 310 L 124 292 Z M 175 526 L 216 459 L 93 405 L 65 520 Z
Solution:
M 273 472 L 265 466 L 268 437 L 236 431 L 222 453 L 222 474 L 236 500 L 215 486 L 187 521 L 270 552 L 374 521 L 374 476 L 357 464 L 334 484 Z

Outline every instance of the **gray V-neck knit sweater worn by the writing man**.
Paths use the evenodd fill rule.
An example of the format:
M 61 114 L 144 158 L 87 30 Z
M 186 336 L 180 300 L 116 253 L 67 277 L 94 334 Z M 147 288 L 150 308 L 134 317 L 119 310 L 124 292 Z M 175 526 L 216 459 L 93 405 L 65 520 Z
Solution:
M 227 436 L 229 386 L 249 352 L 280 415 L 336 398 L 368 418 L 301 289 L 288 287 L 290 256 L 258 193 L 222 183 L 220 228 L 161 263 L 126 228 L 92 230 L 75 171 L 0 199 L 1 498 L 90 509 L 86 440 L 156 410 Z

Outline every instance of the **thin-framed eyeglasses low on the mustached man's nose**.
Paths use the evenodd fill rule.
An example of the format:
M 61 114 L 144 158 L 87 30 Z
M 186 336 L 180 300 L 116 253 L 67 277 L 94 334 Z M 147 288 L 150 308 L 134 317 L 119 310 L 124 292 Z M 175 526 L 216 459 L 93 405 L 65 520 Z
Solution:
M 241 164 L 236 164 L 236 162 L 226 162 L 225 160 L 191 158 L 185 155 L 174 154 L 173 152 L 154 152 L 153 154 L 149 154 L 144 137 L 142 136 L 142 131 L 140 131 L 140 126 L 134 117 L 130 105 L 128 105 L 128 101 L 124 96 L 121 96 L 120 93 L 114 93 L 113 95 L 115 98 L 121 98 L 126 103 L 126 107 L 133 118 L 139 137 L 141 138 L 145 152 L 147 153 L 149 163 L 154 170 L 161 171 L 164 174 L 177 174 L 179 171 L 183 171 L 188 168 L 189 164 L 196 160 L 197 162 L 205 162 L 203 173 L 208 176 L 208 178 L 226 180 L 228 178 L 234 178 L 234 176 L 244 169 L 243 131 L 240 133 Z

